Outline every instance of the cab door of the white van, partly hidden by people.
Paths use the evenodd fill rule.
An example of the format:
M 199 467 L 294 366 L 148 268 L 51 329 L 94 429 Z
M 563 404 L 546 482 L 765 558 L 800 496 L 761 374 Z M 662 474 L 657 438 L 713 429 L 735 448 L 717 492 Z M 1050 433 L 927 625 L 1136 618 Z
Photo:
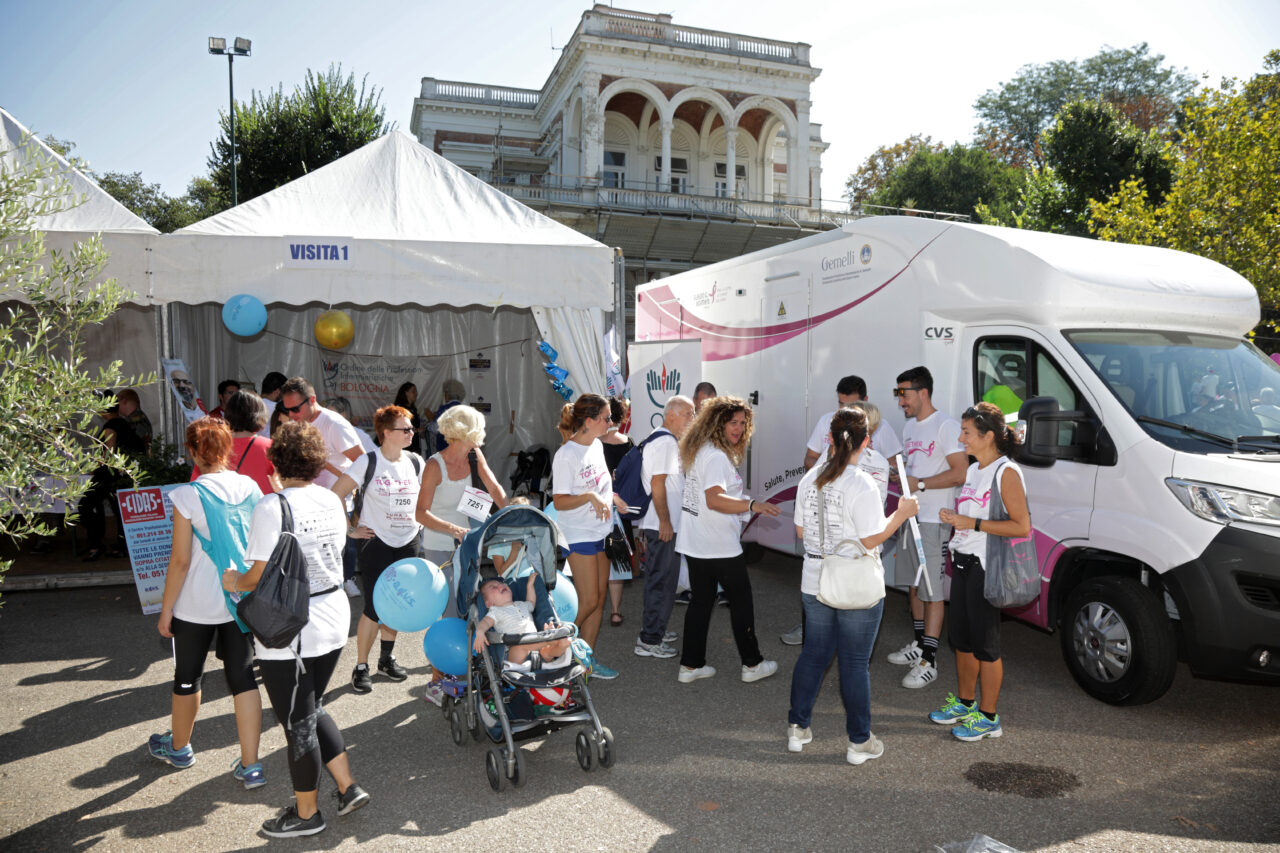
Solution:
M 1079 379 L 1027 329 L 970 328 L 965 338 L 966 351 L 973 353 L 973 398 L 996 403 L 1006 418 L 1016 416 L 1019 406 L 1032 397 L 1053 397 L 1064 410 L 1092 409 L 1079 391 Z M 1059 461 L 1051 467 L 1021 467 L 1041 574 L 1048 578 L 1064 542 L 1088 539 L 1098 466 L 1094 461 Z M 1019 615 L 1039 625 L 1048 621 L 1047 606 L 1039 599 Z

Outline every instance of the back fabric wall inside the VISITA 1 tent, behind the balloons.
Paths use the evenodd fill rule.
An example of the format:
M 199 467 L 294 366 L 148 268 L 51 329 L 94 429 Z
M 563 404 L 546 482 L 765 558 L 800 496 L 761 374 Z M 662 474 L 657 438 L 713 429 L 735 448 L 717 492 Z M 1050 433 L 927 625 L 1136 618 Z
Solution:
M 188 371 L 207 407 L 218 383 L 239 379 L 259 387 L 271 370 L 305 377 L 324 401 L 326 362 L 343 357 L 420 357 L 424 370 L 411 375 L 419 389 L 419 409 L 439 407 L 445 379 L 456 378 L 467 389 L 466 402 L 479 397 L 490 403 L 486 416 L 485 456 L 506 487 L 513 460 L 509 453 L 534 444 L 554 448 L 561 398 L 549 386 L 538 351 L 539 329 L 527 309 L 454 309 L 449 306 L 389 307 L 337 306 L 351 315 L 356 338 L 347 351 L 323 350 L 312 325 L 328 306 L 269 305 L 266 329 L 252 337 L 230 334 L 221 321 L 220 305 L 177 305 L 173 324 L 174 353 Z M 553 345 L 554 346 L 554 345 Z M 349 351 L 349 352 L 348 352 Z M 489 375 L 470 369 L 470 356 L 484 352 L 492 360 Z M 355 353 L 358 353 L 356 356 Z M 398 383 L 385 386 L 394 401 Z M 353 401 L 355 420 L 369 428 L 372 403 Z M 512 416 L 515 415 L 515 416 Z

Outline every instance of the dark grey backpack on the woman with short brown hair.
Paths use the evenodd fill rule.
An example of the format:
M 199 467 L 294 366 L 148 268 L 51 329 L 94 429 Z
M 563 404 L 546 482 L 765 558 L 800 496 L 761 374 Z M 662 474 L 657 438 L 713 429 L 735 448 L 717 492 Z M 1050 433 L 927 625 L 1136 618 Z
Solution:
M 280 538 L 257 588 L 241 599 L 236 613 L 266 648 L 288 648 L 311 619 L 311 581 L 307 558 L 293 534 L 293 511 L 283 494 L 276 498 L 280 501 Z

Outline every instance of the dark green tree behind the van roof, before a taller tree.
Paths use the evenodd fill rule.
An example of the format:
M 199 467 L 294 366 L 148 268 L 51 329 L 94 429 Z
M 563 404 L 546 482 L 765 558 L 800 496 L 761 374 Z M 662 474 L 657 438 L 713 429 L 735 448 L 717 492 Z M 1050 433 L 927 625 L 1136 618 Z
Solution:
M 1137 178 L 1158 204 L 1172 182 L 1172 161 L 1155 132 L 1138 129 L 1111 104 L 1068 104 L 1042 140 L 1046 168 L 1028 177 L 1016 209 L 1004 220 L 980 210 L 983 222 L 1089 237 L 1092 200 Z

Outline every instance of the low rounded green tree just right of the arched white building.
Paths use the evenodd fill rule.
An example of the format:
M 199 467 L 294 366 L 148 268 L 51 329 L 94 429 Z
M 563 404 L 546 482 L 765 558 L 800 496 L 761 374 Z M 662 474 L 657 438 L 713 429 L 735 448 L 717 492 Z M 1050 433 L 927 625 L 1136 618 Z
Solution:
M 986 202 L 1006 213 L 1023 179 L 1021 170 L 1000 163 L 984 149 L 957 142 L 942 151 L 916 151 L 867 201 L 969 216 Z

